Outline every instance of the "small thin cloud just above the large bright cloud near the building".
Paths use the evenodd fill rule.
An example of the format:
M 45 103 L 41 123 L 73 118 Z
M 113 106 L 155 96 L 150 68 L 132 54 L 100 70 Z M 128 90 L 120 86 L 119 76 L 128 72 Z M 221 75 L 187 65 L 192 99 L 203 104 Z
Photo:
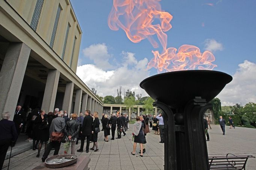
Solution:
M 108 62 L 108 60 L 111 58 L 111 55 L 108 54 L 107 46 L 105 43 L 92 44 L 89 47 L 83 49 L 83 54 L 85 57 L 92 60 L 98 68 L 102 68 L 103 70 L 113 68 L 113 66 Z

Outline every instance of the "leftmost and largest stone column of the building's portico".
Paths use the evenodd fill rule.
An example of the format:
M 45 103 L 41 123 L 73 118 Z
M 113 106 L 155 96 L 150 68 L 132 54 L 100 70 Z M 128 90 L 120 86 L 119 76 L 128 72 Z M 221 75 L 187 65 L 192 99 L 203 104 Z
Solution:
M 1 68 L 0 113 L 10 112 L 10 120 L 14 117 L 30 50 L 24 43 L 10 43 Z

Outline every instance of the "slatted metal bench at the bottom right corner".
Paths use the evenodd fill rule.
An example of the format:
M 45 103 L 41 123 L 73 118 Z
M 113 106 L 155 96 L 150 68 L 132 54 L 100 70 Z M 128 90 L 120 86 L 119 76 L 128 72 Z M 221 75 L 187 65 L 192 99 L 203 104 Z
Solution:
M 210 170 L 245 170 L 248 158 L 255 158 L 252 155 L 227 154 L 226 156 L 208 157 Z

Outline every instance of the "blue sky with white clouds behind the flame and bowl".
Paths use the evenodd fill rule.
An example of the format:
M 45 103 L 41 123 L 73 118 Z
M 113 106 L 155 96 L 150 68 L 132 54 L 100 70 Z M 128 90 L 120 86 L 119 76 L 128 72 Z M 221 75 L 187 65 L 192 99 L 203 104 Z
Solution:
M 147 96 L 139 83 L 159 73 L 146 69 L 152 51 L 163 52 L 159 37 L 152 36 L 156 47 L 151 37 L 134 43 L 121 28 L 110 29 L 112 0 L 71 0 L 71 4 L 83 31 L 77 67 L 81 80 L 100 96 L 116 96 L 119 86 L 123 92 L 129 89 Z M 222 105 L 256 102 L 256 1 L 162 0 L 160 5 L 173 17 L 172 28 L 164 32 L 167 48 L 188 44 L 201 53 L 208 50 L 215 56 L 213 70 L 232 75 L 232 82 L 217 96 Z

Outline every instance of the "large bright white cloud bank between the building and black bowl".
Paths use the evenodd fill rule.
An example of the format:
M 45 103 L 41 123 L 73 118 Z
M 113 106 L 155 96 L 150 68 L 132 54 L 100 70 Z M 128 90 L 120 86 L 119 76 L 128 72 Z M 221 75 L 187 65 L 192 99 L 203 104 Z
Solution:
M 119 86 L 122 86 L 122 96 L 128 89 L 148 96 L 139 86 L 142 80 L 149 77 L 149 71 L 146 70 L 148 59 L 137 61 L 135 54 L 130 52 L 122 52 L 121 55 L 123 62 L 116 69 L 104 71 L 97 65 L 86 64 L 77 67 L 77 75 L 90 89 L 95 87 L 97 94 L 102 97 L 117 96 Z

